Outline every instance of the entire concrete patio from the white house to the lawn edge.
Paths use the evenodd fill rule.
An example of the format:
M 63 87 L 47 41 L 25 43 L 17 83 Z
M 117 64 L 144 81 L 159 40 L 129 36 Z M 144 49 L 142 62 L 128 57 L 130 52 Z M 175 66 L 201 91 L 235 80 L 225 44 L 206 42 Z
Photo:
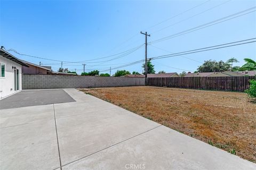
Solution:
M 1 169 L 256 169 L 252 162 L 121 107 L 64 90 L 68 96 L 47 90 L 50 96 L 44 98 L 57 92 L 67 103 L 56 98 L 31 106 L 28 98 L 27 107 L 23 101 L 11 108 L 0 101 Z

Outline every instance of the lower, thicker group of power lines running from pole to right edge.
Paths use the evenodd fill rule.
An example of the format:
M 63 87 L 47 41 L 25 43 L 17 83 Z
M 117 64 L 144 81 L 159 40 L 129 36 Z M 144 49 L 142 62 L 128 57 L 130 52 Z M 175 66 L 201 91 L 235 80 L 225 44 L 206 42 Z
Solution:
M 186 55 L 186 54 L 205 52 L 205 51 L 208 51 L 208 50 L 214 50 L 214 49 L 220 49 L 220 48 L 226 48 L 226 47 L 232 47 L 232 46 L 238 46 L 238 45 L 243 45 L 243 44 L 249 44 L 249 43 L 256 42 L 256 40 L 249 41 L 249 40 L 253 40 L 253 39 L 256 39 L 256 38 L 251 38 L 251 39 L 246 39 L 246 40 L 241 40 L 241 41 L 235 41 L 235 42 L 232 42 L 232 43 L 226 43 L 226 44 L 221 44 L 221 45 L 216 45 L 216 46 L 211 46 L 211 47 L 198 48 L 198 49 L 188 50 L 186 52 L 173 53 L 173 54 L 167 54 L 167 55 L 152 57 L 152 58 L 150 58 L 150 60 L 156 60 L 156 59 L 160 59 L 160 58 L 167 58 L 167 57 L 174 57 L 174 56 L 180 56 L 180 55 Z M 249 42 L 239 43 L 239 42 L 243 42 L 243 41 L 249 41 Z M 239 43 L 239 44 L 235 44 L 235 43 Z M 234 45 L 229 45 L 229 44 L 234 44 Z M 228 46 L 224 46 L 224 45 L 228 45 Z M 223 46 L 223 47 L 220 47 L 220 46 Z M 213 47 L 216 47 L 216 48 L 213 48 Z

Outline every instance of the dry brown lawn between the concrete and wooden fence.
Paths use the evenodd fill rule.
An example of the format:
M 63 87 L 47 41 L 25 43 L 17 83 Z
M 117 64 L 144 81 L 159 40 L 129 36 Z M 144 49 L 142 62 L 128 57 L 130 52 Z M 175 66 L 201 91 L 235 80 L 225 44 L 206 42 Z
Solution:
M 244 93 L 149 86 L 81 90 L 256 163 L 256 104 Z

